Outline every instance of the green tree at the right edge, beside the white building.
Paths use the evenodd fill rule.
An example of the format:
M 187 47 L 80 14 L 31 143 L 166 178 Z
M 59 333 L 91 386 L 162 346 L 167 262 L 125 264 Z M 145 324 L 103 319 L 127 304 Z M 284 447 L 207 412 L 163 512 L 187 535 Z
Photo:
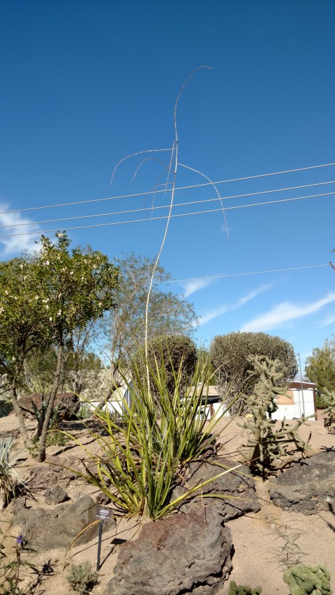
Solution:
M 334 336 L 333 336 L 334 337 Z M 326 339 L 323 347 L 316 347 L 306 359 L 305 375 L 318 389 L 318 400 L 325 391 L 335 391 L 335 340 Z

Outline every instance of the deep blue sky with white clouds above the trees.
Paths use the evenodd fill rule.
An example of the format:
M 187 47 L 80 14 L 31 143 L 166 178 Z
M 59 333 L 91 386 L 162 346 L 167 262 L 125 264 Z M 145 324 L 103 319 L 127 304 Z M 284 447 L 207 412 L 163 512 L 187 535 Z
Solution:
M 166 220 L 154 217 L 168 211 L 151 207 L 170 193 L 144 193 L 163 189 L 170 153 L 126 160 L 110 179 L 124 156 L 170 149 L 174 102 L 202 65 L 212 70 L 195 73 L 178 105 L 178 188 L 206 182 L 193 170 L 223 182 L 335 162 L 334 1 L 3 0 L 0 11 L 1 235 L 144 219 L 69 234 L 111 258 L 156 255 Z M 239 275 L 335 260 L 335 194 L 320 196 L 334 181 L 332 165 L 218 184 L 229 238 L 220 201 L 174 206 L 172 215 L 213 210 L 173 217 L 161 257 L 186 279 L 169 288 L 193 301 L 198 342 L 264 331 L 304 361 L 334 333 L 330 266 Z M 232 208 L 310 195 L 319 196 Z M 211 199 L 213 186 L 174 197 Z M 78 219 L 135 209 L 144 210 Z M 73 219 L 36 223 L 57 218 Z M 20 223 L 36 225 L 10 227 Z M 0 237 L 1 258 L 37 238 Z

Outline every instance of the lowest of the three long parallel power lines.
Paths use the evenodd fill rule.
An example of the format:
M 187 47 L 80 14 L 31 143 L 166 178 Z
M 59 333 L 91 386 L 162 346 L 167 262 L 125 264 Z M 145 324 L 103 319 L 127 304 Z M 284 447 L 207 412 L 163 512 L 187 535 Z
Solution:
M 253 204 L 240 204 L 237 206 L 226 206 L 225 207 L 225 211 L 232 211 L 233 209 L 247 209 L 250 206 L 264 206 L 265 204 L 278 204 L 280 202 L 291 202 L 293 200 L 304 200 L 307 198 L 318 198 L 318 197 L 323 197 L 323 196 L 330 196 L 330 195 L 334 195 L 335 192 L 327 192 L 327 193 L 322 193 L 322 194 L 312 194 L 312 195 L 307 195 L 307 196 L 300 196 L 300 197 L 295 197 L 295 198 L 283 198 L 283 199 L 278 199 L 278 200 L 271 200 L 271 201 L 267 201 L 267 202 L 255 202 Z M 216 202 L 219 199 L 217 198 L 213 198 L 210 199 L 210 202 Z M 201 201 L 202 202 L 202 201 Z M 191 203 L 185 203 L 185 204 L 191 204 Z M 157 209 L 168 209 L 170 205 L 165 205 L 165 206 L 159 206 L 159 207 L 155 207 Z M 174 206 L 182 206 L 182 205 L 174 205 Z M 139 209 L 139 210 L 143 210 L 143 209 Z M 177 218 L 177 217 L 190 217 L 193 215 L 204 215 L 205 213 L 217 213 L 218 211 L 222 211 L 222 209 L 207 209 L 207 211 L 195 211 L 193 213 L 179 213 L 179 214 L 174 214 L 174 215 L 170 215 L 170 218 Z M 121 213 L 126 213 L 126 212 L 134 212 L 134 211 L 121 211 Z M 116 215 L 117 213 L 113 213 L 114 215 Z M 110 225 L 126 225 L 127 223 L 142 223 L 144 221 L 157 221 L 157 220 L 163 220 L 163 219 L 167 219 L 168 215 L 162 215 L 161 217 L 151 217 L 151 218 L 145 218 L 145 219 L 132 219 L 129 221 L 114 221 L 112 223 L 96 223 L 95 225 L 76 225 L 73 227 L 66 227 L 67 231 L 70 231 L 72 229 L 91 229 L 93 227 L 108 227 Z M 28 225 L 27 223 L 25 225 Z M 34 225 L 34 224 L 33 224 Z M 36 223 L 35 223 L 36 225 Z M 11 227 L 15 227 L 14 225 L 12 225 Z M 59 229 L 37 229 L 34 232 L 22 232 L 20 234 L 1 234 L 0 238 L 9 238 L 9 237 L 13 237 L 13 236 L 30 236 L 30 235 L 36 235 L 36 234 L 47 234 L 47 233 L 52 233 L 52 232 L 57 232 L 59 231 Z

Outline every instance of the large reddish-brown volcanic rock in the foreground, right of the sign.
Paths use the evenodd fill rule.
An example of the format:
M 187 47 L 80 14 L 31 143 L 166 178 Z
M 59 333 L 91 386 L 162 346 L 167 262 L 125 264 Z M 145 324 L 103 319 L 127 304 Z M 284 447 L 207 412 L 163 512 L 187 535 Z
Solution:
M 120 545 L 105 595 L 211 595 L 232 566 L 232 538 L 214 509 L 148 522 L 135 541 Z

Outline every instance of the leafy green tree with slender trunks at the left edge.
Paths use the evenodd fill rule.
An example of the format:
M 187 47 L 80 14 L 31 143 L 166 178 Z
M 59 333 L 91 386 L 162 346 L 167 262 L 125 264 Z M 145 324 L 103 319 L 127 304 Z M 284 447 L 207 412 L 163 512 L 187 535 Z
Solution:
M 73 349 L 73 334 L 115 306 L 117 268 L 101 252 L 89 247 L 70 250 L 69 246 L 70 239 L 65 233 L 57 234 L 55 242 L 42 236 L 40 250 L 33 257 L 14 259 L 0 269 L 3 287 L 11 282 L 8 301 L 3 299 L 2 292 L 0 296 L 4 321 L 4 329 L 0 331 L 0 363 L 10 378 L 13 405 L 22 428 L 17 382 L 24 361 L 52 346 L 57 352 L 38 460 L 45 460 L 45 439 L 61 382 L 64 354 L 67 349 Z M 24 437 L 27 439 L 27 432 Z

